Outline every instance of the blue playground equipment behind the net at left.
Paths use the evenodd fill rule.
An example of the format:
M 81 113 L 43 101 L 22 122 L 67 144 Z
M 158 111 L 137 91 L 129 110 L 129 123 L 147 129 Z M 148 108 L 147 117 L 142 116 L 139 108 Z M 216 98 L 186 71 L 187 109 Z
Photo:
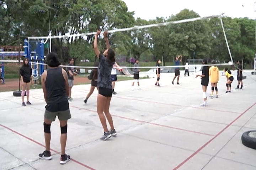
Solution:
M 1 60 L 7 63 L 18 63 L 22 62 L 21 58 L 26 57 L 30 62 L 30 66 L 32 68 L 32 77 L 33 80 L 38 80 L 39 76 L 44 72 L 44 65 L 39 63 L 44 63 L 44 41 L 31 41 L 36 44 L 36 49 L 31 50 L 31 44 L 28 41 L 24 40 L 24 46 L 22 49 L 24 51 L 14 51 L 19 49 L 19 47 L 1 47 L 0 56 Z M 11 51 L 10 51 L 11 50 Z M 1 77 L 4 79 L 5 77 L 5 66 L 4 63 L 1 62 Z

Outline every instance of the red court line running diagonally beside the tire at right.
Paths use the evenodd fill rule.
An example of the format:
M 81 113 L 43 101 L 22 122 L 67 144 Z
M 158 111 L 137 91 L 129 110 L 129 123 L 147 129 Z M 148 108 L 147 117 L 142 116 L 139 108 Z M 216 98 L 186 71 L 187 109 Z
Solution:
M 228 129 L 229 126 L 231 126 L 233 123 L 235 123 L 235 121 L 237 121 L 242 115 L 244 115 L 247 111 L 249 111 L 252 107 L 254 107 L 254 105 L 256 104 L 256 102 L 254 104 L 252 104 L 252 106 L 250 106 L 248 109 L 246 109 L 243 113 L 241 113 L 237 118 L 235 118 L 235 120 L 231 121 L 231 123 L 229 123 L 224 129 L 222 129 L 217 135 L 215 135 L 213 138 L 211 138 L 208 142 L 206 142 L 201 148 L 199 148 L 196 152 L 194 152 L 192 155 L 190 155 L 187 159 L 185 159 L 182 163 L 180 163 L 178 166 L 176 166 L 174 169 L 172 170 L 177 170 L 179 169 L 182 165 L 184 165 L 186 162 L 188 162 L 188 160 L 190 160 L 191 158 L 193 158 L 196 154 L 198 154 L 203 148 L 205 148 L 210 142 L 212 142 L 216 137 L 218 137 L 220 134 L 222 134 L 226 129 Z

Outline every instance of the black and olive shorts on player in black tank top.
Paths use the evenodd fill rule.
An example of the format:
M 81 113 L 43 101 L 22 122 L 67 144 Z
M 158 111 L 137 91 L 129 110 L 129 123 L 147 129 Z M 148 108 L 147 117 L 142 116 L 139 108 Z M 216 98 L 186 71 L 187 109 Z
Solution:
M 68 120 L 71 118 L 68 101 L 54 103 L 54 104 L 47 104 L 45 108 L 46 108 L 44 112 L 45 119 L 55 121 L 56 116 L 58 116 L 59 120 Z

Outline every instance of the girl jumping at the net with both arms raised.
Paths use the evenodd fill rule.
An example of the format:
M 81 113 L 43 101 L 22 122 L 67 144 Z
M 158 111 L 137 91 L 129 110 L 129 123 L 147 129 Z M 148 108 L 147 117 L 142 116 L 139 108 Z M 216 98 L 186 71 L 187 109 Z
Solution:
M 106 41 L 107 50 L 103 52 L 103 55 L 98 49 L 98 39 L 97 37 L 101 34 L 100 30 L 97 30 L 97 33 L 94 38 L 94 51 L 96 56 L 99 59 L 98 66 L 98 96 L 97 96 L 97 113 L 100 118 L 104 134 L 101 137 L 101 140 L 107 140 L 111 136 L 116 136 L 116 130 L 114 129 L 113 119 L 109 112 L 110 101 L 113 94 L 112 83 L 111 83 L 111 70 L 114 63 L 116 63 L 114 50 L 110 48 L 110 44 L 107 38 L 107 32 L 104 33 L 104 38 Z M 105 115 L 104 115 L 104 113 Z M 106 116 L 106 117 L 105 117 Z M 108 131 L 106 118 L 110 124 L 110 131 Z

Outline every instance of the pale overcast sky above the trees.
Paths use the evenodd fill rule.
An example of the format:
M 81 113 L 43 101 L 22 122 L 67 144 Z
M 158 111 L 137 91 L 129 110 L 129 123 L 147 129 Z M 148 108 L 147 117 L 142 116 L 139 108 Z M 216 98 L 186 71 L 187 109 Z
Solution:
M 224 15 L 255 19 L 255 0 L 123 0 L 135 18 L 155 19 L 177 14 L 184 8 L 197 12 L 201 17 Z M 244 5 L 244 7 L 242 7 Z

